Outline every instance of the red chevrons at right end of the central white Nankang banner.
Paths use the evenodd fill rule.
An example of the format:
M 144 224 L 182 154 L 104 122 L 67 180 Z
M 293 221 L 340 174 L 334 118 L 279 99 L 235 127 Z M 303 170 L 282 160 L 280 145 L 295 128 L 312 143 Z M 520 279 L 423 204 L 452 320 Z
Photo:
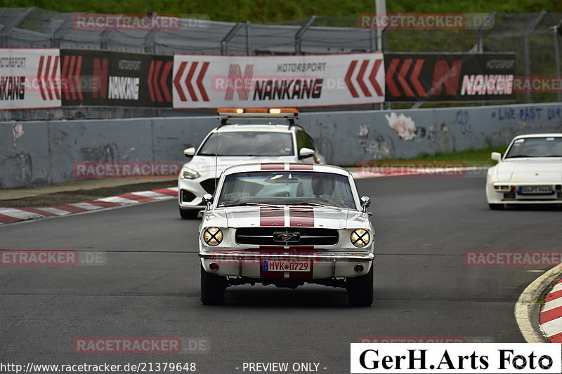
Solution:
M 381 86 L 379 85 L 379 82 L 377 82 L 377 73 L 381 68 L 382 60 L 362 60 L 360 62 L 358 73 L 355 76 L 355 82 L 359 86 L 360 92 L 358 92 L 358 90 L 355 89 L 355 86 L 353 85 L 353 75 L 358 64 L 359 60 L 351 61 L 351 64 L 349 64 L 349 67 L 347 69 L 346 77 L 344 79 L 344 81 L 346 82 L 346 86 L 351 93 L 351 96 L 353 96 L 353 98 L 359 98 L 361 95 L 364 95 L 365 97 L 371 97 L 373 94 L 382 96 L 383 93 Z M 365 76 L 365 73 L 367 72 L 370 73 Z M 367 85 L 367 83 L 370 84 L 371 88 Z

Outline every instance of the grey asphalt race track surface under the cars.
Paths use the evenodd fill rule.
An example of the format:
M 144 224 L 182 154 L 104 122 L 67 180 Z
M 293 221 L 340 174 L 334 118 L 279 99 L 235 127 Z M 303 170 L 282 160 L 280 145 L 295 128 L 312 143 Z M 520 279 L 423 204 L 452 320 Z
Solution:
M 202 305 L 200 220 L 181 220 L 174 200 L 0 227 L 1 249 L 101 251 L 107 258 L 100 266 L 0 267 L 0 361 L 195 362 L 197 373 L 248 373 L 244 362 L 313 362 L 320 373 L 349 373 L 349 343 L 362 337 L 524 342 L 514 304 L 547 267 L 467 267 L 463 254 L 559 250 L 560 210 L 490 211 L 482 171 L 357 183 L 372 198 L 377 229 L 369 308 L 348 306 L 346 290 L 310 285 L 235 286 L 225 305 Z M 201 338 L 209 349 L 77 354 L 72 342 L 81 337 Z

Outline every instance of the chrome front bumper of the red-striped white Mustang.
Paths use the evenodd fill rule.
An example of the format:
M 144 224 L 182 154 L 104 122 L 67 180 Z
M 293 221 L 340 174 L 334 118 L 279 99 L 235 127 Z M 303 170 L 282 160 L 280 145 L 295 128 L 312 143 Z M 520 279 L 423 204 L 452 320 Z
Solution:
M 223 276 L 240 276 L 245 278 L 266 278 L 269 275 L 282 274 L 284 279 L 336 279 L 366 275 L 374 260 L 373 253 L 354 252 L 318 252 L 313 254 L 259 253 L 254 251 L 201 251 L 201 263 L 206 272 Z M 311 272 L 269 272 L 263 271 L 263 261 L 308 261 Z M 218 269 L 211 270 L 214 262 Z M 362 265 L 360 272 L 355 265 Z

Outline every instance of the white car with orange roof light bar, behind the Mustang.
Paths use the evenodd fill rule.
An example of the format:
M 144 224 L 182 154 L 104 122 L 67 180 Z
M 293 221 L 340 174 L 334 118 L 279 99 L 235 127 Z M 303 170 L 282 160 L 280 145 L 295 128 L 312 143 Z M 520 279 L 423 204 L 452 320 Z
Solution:
M 217 112 L 221 126 L 207 135 L 199 149 L 183 151 L 191 159 L 178 175 L 182 218 L 197 218 L 204 209 L 203 195 L 214 193 L 218 176 L 229 166 L 254 162 L 325 163 L 311 135 L 295 123 L 297 109 L 219 108 Z

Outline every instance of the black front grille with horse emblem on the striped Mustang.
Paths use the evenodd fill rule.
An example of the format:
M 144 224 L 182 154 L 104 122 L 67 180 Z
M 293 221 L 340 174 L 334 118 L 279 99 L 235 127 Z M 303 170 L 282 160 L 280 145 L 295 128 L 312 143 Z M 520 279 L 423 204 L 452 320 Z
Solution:
M 235 234 L 236 243 L 254 246 L 334 246 L 338 237 L 336 229 L 315 227 L 241 227 Z

